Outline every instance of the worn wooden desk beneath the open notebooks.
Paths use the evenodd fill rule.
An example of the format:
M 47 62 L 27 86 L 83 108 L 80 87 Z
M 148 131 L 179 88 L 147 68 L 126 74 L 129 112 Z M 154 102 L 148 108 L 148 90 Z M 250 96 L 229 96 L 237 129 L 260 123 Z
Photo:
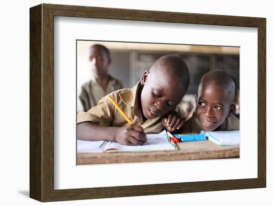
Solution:
M 209 140 L 178 143 L 177 151 L 78 153 L 77 164 L 177 161 L 193 159 L 238 158 L 239 146 L 218 146 Z

